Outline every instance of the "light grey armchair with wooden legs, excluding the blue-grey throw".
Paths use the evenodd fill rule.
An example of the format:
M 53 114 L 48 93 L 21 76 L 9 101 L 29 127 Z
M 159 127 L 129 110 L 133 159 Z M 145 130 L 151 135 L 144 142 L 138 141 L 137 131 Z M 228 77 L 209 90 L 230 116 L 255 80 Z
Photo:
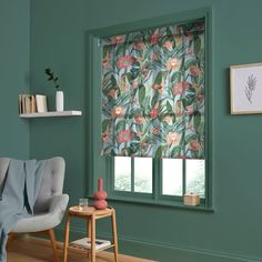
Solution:
M 9 161 L 8 158 L 0 158 L 0 192 Z M 64 160 L 59 157 L 47 161 L 49 162 L 48 170 L 34 203 L 34 215 L 20 219 L 10 233 L 10 239 L 14 233 L 47 232 L 54 252 L 54 261 L 59 262 L 53 228 L 62 221 L 69 201 L 68 194 L 62 194 L 66 164 Z

